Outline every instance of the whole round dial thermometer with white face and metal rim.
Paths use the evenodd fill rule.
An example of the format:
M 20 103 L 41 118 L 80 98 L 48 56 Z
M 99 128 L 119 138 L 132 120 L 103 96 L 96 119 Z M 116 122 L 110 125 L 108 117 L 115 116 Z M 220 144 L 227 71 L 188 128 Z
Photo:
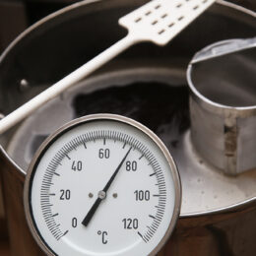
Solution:
M 68 123 L 39 148 L 25 183 L 32 235 L 47 255 L 156 255 L 180 210 L 160 139 L 119 115 Z

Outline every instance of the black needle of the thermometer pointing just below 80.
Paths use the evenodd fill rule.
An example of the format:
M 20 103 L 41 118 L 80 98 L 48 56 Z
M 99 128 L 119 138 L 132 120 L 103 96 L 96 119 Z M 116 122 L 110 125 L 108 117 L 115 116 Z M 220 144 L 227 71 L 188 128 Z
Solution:
M 98 198 L 96 199 L 95 204 L 93 205 L 93 207 L 91 208 L 91 210 L 89 211 L 89 213 L 87 214 L 87 216 L 85 217 L 85 219 L 83 220 L 82 224 L 84 224 L 85 226 L 87 226 L 90 221 L 92 220 L 92 218 L 94 217 L 95 213 L 96 213 L 96 209 L 98 208 L 99 204 L 101 203 L 101 201 L 105 198 L 106 196 L 106 192 L 108 190 L 108 188 L 110 187 L 110 185 L 112 184 L 115 176 L 117 175 L 117 173 L 119 172 L 121 166 L 123 165 L 124 161 L 126 160 L 126 158 L 128 157 L 129 153 L 131 152 L 132 147 L 129 149 L 129 151 L 126 153 L 126 155 L 124 156 L 124 158 L 121 160 L 121 162 L 119 163 L 119 165 L 117 166 L 116 170 L 114 171 L 114 173 L 112 174 L 112 176 L 110 177 L 110 179 L 108 180 L 108 182 L 106 183 L 105 187 L 103 188 L 103 190 L 99 191 L 98 193 Z

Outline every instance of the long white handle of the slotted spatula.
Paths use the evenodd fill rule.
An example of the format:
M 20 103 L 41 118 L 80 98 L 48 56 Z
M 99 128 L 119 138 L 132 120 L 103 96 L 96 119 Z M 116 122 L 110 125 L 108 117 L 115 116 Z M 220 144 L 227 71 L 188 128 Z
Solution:
M 30 114 L 32 114 L 32 112 L 50 99 L 54 98 L 55 96 L 59 96 L 68 88 L 74 86 L 76 83 L 92 74 L 94 71 L 96 71 L 96 69 L 113 59 L 133 43 L 135 43 L 133 37 L 128 34 L 126 37 L 122 38 L 105 51 L 101 52 L 91 61 L 87 62 L 39 95 L 34 96 L 30 101 L 0 120 L 0 134 L 3 134 L 9 128 L 28 117 Z

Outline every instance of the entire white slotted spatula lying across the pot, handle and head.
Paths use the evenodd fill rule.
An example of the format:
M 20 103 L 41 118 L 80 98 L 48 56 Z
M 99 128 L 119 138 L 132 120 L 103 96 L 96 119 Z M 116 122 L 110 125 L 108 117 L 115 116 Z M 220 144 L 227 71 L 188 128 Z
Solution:
M 0 121 L 0 134 L 29 116 L 39 106 L 93 73 L 120 52 L 140 41 L 165 45 L 215 0 L 154 0 L 122 17 L 119 24 L 128 30 L 126 37 L 66 76 Z

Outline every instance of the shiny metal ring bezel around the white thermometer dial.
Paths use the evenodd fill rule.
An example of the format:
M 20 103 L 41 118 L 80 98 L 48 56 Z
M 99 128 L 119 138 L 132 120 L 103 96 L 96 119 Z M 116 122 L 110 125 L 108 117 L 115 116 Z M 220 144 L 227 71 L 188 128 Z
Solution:
M 87 115 L 75 120 L 72 120 L 71 122 L 65 124 L 61 128 L 59 128 L 57 131 L 55 131 L 53 134 L 51 134 L 39 147 L 39 149 L 36 151 L 32 162 L 29 166 L 26 180 L 25 180 L 25 187 L 24 187 L 24 207 L 25 207 L 25 214 L 27 223 L 29 224 L 30 230 L 32 232 L 32 236 L 36 243 L 39 245 L 39 247 L 42 249 L 43 252 L 45 252 L 49 256 L 56 256 L 57 254 L 50 248 L 50 246 L 46 243 L 44 238 L 41 236 L 40 231 L 37 228 L 37 225 L 34 221 L 34 218 L 32 216 L 32 180 L 33 176 L 36 170 L 36 167 L 38 163 L 40 162 L 41 158 L 44 156 L 45 152 L 48 150 L 51 145 L 58 140 L 62 135 L 64 135 L 66 132 L 70 131 L 71 129 L 83 125 L 85 123 L 93 122 L 93 121 L 99 121 L 99 120 L 107 120 L 107 121 L 115 121 L 120 122 L 126 125 L 131 125 L 132 127 L 139 129 L 142 133 L 144 133 L 146 136 L 151 139 L 156 146 L 159 147 L 160 152 L 163 154 L 164 158 L 167 160 L 167 163 L 169 165 L 169 168 L 171 170 L 171 176 L 173 179 L 174 184 L 174 191 L 175 191 L 175 197 L 174 197 L 174 208 L 173 208 L 173 215 L 172 219 L 168 225 L 168 228 L 166 229 L 166 232 L 164 236 L 161 238 L 160 243 L 154 248 L 154 250 L 149 254 L 150 256 L 156 255 L 160 249 L 163 247 L 163 245 L 167 242 L 168 238 L 170 237 L 175 224 L 177 223 L 179 213 L 180 213 L 180 207 L 181 207 L 181 184 L 180 184 L 180 177 L 179 173 L 176 167 L 176 164 L 172 157 L 170 156 L 169 151 L 164 146 L 164 144 L 161 142 L 160 138 L 152 132 L 149 128 L 144 126 L 143 124 L 121 115 L 116 114 L 91 114 Z

